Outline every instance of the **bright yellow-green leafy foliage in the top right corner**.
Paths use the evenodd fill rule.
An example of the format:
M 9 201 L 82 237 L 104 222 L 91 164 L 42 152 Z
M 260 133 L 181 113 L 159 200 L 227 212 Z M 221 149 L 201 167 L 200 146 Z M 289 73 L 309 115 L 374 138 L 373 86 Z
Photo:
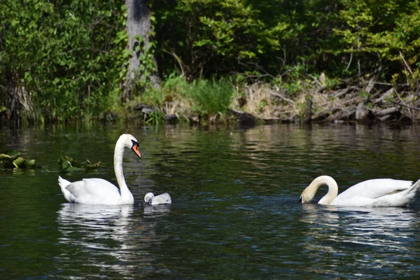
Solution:
M 344 52 L 353 52 L 367 71 L 384 69 L 388 80 L 398 72 L 406 79 L 414 76 L 409 69 L 420 66 L 420 1 L 342 3 L 346 27 L 335 28 L 335 34 L 342 38 Z

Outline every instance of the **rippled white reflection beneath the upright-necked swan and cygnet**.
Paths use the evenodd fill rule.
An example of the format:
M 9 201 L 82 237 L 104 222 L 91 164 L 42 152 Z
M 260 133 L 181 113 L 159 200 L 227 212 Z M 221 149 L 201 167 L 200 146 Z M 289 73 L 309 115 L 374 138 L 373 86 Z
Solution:
M 144 209 L 144 212 L 153 217 L 170 211 L 167 207 L 158 208 L 153 211 Z M 156 223 L 144 223 L 142 219 L 133 218 L 133 205 L 66 203 L 62 204 L 57 214 L 58 230 L 61 232 L 59 243 L 68 246 L 57 256 L 59 262 L 72 260 L 72 265 L 97 267 L 107 275 L 115 272 L 119 276 L 132 276 L 133 269 L 141 274 L 155 270 L 151 265 L 155 258 L 150 251 L 167 237 L 156 234 Z M 65 270 L 65 267 L 62 269 Z M 100 274 L 83 272 L 83 275 Z

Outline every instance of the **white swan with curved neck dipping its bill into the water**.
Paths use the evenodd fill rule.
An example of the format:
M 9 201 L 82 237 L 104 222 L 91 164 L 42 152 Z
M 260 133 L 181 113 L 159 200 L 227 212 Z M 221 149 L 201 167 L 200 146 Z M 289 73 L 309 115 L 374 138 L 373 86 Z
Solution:
M 412 203 L 420 189 L 420 180 L 412 181 L 393 179 L 372 179 L 357 183 L 343 193 L 338 193 L 338 186 L 330 176 L 319 176 L 305 188 L 299 201 L 309 203 L 319 187 L 328 186 L 328 193 L 318 204 L 358 206 L 358 207 L 402 207 Z

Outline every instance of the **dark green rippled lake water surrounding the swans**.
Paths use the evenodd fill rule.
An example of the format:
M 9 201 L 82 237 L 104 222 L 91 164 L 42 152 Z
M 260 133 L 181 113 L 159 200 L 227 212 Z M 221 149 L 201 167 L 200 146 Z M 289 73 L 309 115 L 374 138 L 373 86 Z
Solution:
M 101 161 L 62 174 L 116 183 L 119 135 L 132 206 L 68 204 L 59 155 Z M 0 171 L 1 279 L 414 279 L 420 272 L 420 197 L 409 208 L 302 205 L 321 174 L 343 191 L 366 179 L 420 177 L 420 130 L 359 125 L 44 127 L 0 130 L 42 169 Z M 170 207 L 144 207 L 148 192 Z M 318 200 L 325 188 L 318 191 Z

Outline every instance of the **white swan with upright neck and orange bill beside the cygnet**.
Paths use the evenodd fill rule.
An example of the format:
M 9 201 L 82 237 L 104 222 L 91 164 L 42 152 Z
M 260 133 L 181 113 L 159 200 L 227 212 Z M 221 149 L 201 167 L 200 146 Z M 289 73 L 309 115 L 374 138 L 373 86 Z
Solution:
M 134 197 L 125 183 L 123 173 L 123 155 L 126 147 L 131 148 L 141 158 L 137 139 L 131 134 L 121 135 L 114 151 L 114 171 L 119 189 L 104 179 L 90 178 L 71 183 L 58 176 L 58 183 L 66 200 L 82 204 L 134 204 Z

